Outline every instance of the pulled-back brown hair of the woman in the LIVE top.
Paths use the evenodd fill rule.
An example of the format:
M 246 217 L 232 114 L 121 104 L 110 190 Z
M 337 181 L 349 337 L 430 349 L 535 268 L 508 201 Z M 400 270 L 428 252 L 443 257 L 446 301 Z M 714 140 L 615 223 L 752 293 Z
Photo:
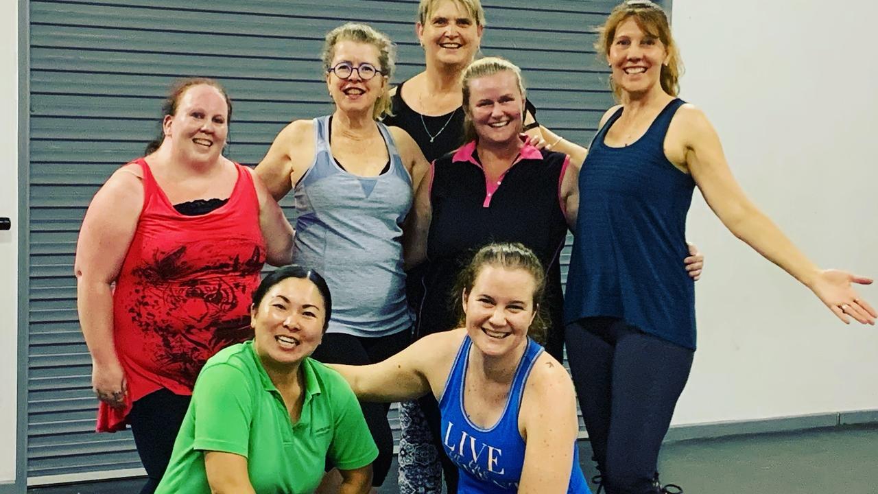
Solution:
M 534 277 L 534 321 L 530 323 L 528 336 L 536 343 L 544 344 L 549 318 L 543 309 L 543 294 L 546 288 L 546 274 L 543 264 L 533 251 L 522 243 L 488 243 L 479 249 L 472 257 L 470 264 L 457 274 L 457 282 L 452 292 L 457 307 L 457 323 L 463 326 L 466 322 L 466 314 L 460 302 L 462 294 L 470 294 L 476 278 L 485 266 L 493 265 L 505 269 L 523 269 Z

